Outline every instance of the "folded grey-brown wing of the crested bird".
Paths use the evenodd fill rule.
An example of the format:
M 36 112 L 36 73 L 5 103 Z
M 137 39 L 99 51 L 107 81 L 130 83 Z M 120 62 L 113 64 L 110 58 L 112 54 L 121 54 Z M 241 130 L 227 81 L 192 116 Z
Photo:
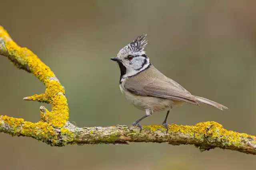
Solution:
M 152 96 L 198 104 L 195 96 L 168 80 L 154 79 L 143 84 L 129 82 L 124 84 L 124 88 L 130 93 L 139 96 Z

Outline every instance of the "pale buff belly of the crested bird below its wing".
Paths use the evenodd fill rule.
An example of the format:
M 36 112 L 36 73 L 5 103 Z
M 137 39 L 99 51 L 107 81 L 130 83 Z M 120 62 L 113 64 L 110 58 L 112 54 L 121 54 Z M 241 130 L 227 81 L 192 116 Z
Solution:
M 163 111 L 169 109 L 176 104 L 176 101 L 164 98 L 156 98 L 149 96 L 138 96 L 131 94 L 120 87 L 122 94 L 134 104 L 135 107 L 141 110 L 152 109 L 153 111 Z

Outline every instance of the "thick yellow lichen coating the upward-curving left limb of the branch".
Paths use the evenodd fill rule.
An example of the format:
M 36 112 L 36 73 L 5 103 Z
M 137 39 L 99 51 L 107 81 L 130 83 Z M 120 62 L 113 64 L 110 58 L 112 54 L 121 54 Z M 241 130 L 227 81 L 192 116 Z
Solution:
M 0 37 L 4 38 L 8 55 L 15 57 L 19 64 L 27 64 L 32 74 L 46 85 L 45 94 L 29 96 L 32 100 L 49 102 L 52 104 L 52 111 L 45 115 L 41 114 L 42 120 L 48 121 L 55 127 L 62 127 L 68 121 L 68 104 L 63 96 L 65 90 L 57 80 L 51 80 L 54 73 L 44 64 L 32 51 L 18 46 L 10 35 L 0 26 Z M 15 63 L 16 64 L 16 63 Z M 59 94 L 62 93 L 62 94 Z

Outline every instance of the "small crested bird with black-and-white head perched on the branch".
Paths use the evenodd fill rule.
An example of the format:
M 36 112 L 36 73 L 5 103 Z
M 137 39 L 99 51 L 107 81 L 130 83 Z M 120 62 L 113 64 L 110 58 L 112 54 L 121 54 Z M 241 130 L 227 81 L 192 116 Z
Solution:
M 162 123 L 168 133 L 167 118 L 173 106 L 190 103 L 199 106 L 199 103 L 214 106 L 220 110 L 228 109 L 217 102 L 206 98 L 192 95 L 178 82 L 165 76 L 156 69 L 146 51 L 144 51 L 148 41 L 146 33 L 139 35 L 134 41 L 120 49 L 117 57 L 112 57 L 120 68 L 119 87 L 124 96 L 140 110 L 146 114 L 134 121 L 132 125 L 140 128 L 142 119 L 150 116 L 153 112 L 166 111 L 165 119 Z

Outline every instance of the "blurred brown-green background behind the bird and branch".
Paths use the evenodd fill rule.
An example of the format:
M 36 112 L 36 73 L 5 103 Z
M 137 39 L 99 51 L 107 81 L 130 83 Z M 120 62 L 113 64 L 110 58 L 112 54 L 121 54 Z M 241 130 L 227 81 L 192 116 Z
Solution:
M 0 24 L 54 71 L 66 89 L 70 121 L 79 127 L 131 125 L 144 115 L 121 94 L 110 57 L 147 33 L 152 64 L 192 94 L 229 109 L 201 104 L 175 107 L 168 123 L 217 121 L 256 135 L 256 1 L 254 0 L 0 0 Z M 44 85 L 0 57 L 0 115 L 40 119 Z M 50 105 L 43 104 L 48 109 Z M 161 124 L 165 112 L 142 124 Z M 0 134 L 0 164 L 10 170 L 240 170 L 255 156 L 231 150 L 200 152 L 167 143 L 50 147 Z

